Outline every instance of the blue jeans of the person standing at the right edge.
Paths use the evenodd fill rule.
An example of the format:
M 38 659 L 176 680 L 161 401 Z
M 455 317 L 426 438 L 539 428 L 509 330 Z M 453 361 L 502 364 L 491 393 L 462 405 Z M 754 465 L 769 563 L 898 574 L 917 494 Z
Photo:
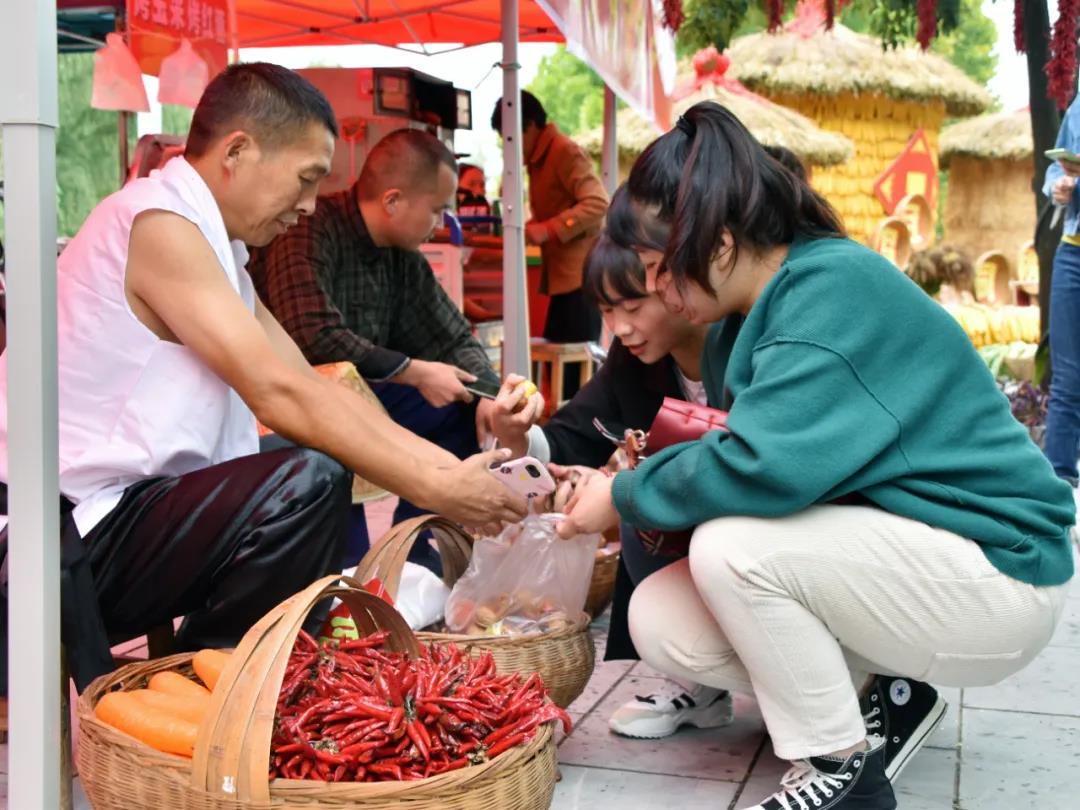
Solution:
M 1064 242 L 1058 245 L 1050 288 L 1054 375 L 1044 448 L 1054 472 L 1075 481 L 1080 446 L 1080 247 Z

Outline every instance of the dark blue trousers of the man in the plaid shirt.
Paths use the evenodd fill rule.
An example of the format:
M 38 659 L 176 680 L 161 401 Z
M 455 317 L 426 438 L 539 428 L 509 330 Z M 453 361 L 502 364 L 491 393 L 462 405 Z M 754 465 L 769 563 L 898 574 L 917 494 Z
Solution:
M 411 386 L 377 382 L 372 386 L 390 418 L 432 444 L 464 459 L 480 453 L 476 441 L 476 406 L 456 402 L 442 408 L 428 404 Z M 394 524 L 423 514 L 427 510 L 404 498 L 394 510 Z M 426 566 L 442 576 L 438 554 L 424 542 L 416 543 L 408 554 L 409 562 Z

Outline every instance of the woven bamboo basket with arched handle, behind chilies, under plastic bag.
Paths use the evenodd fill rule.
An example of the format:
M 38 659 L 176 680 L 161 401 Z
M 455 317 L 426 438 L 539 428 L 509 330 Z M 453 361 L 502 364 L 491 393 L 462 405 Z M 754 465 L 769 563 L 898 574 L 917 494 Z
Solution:
M 426 529 L 438 542 L 443 581 L 453 588 L 469 566 L 472 538 L 457 524 L 435 515 L 420 515 L 393 526 L 360 561 L 356 579 L 367 582 L 378 577 L 391 598 L 396 597 L 408 551 Z M 490 650 L 499 672 L 538 672 L 552 701 L 566 708 L 584 691 L 596 663 L 589 621 L 583 612 L 577 624 L 551 633 L 484 636 L 424 632 L 417 637 L 422 642 L 453 642 L 477 652 Z

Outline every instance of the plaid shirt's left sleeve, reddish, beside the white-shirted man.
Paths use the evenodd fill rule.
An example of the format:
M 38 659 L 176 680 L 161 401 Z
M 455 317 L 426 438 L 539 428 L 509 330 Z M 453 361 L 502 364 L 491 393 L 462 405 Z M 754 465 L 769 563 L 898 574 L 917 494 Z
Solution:
M 338 266 L 338 240 L 322 233 L 315 217 L 276 239 L 252 261 L 252 276 L 262 302 L 300 347 L 309 363 L 349 361 L 374 382 L 408 365 L 400 352 L 376 346 L 351 330 L 330 296 Z

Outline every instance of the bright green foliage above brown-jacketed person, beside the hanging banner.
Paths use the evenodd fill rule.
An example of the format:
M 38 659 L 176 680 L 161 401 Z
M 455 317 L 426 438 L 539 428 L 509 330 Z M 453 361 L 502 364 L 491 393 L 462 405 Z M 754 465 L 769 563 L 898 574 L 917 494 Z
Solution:
M 540 60 L 526 90 L 540 99 L 548 120 L 567 135 L 588 132 L 604 122 L 604 81 L 563 46 Z

